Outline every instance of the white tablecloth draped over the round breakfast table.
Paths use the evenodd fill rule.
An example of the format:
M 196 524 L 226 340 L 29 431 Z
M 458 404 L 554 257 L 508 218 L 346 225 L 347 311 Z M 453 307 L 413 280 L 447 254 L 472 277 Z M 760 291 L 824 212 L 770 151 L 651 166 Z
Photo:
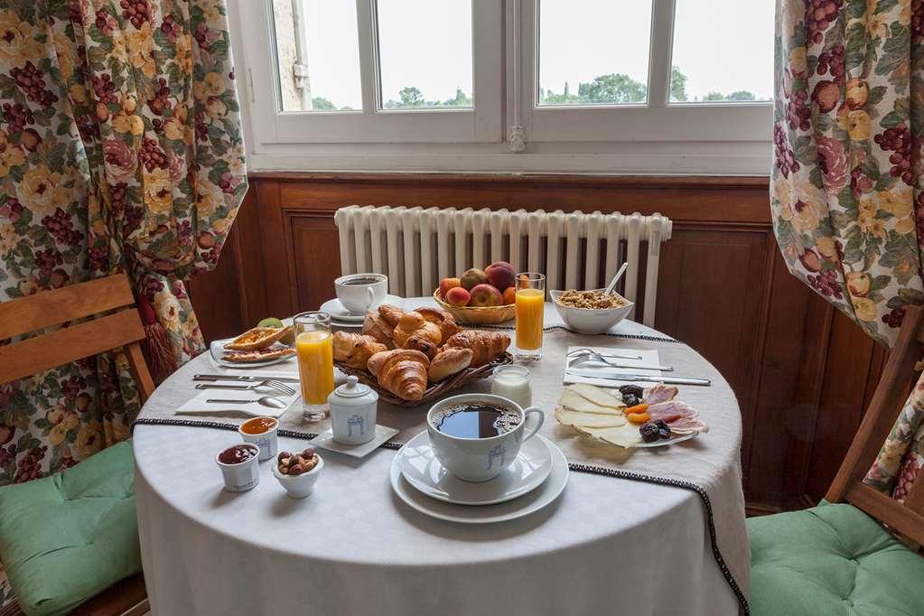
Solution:
M 556 319 L 547 311 L 547 325 Z M 663 335 L 631 321 L 615 331 Z M 192 397 L 191 376 L 206 368 L 204 356 L 189 362 L 145 407 L 176 405 L 180 392 Z M 269 464 L 255 489 L 227 492 L 213 456 L 236 441 L 221 429 L 134 430 L 153 614 L 738 611 L 702 503 L 689 490 L 572 472 L 563 494 L 538 513 L 460 525 L 398 500 L 388 481 L 395 451 L 387 449 L 361 460 L 322 452 L 322 477 L 305 500 L 286 497 Z M 280 438 L 280 449 L 305 445 Z

